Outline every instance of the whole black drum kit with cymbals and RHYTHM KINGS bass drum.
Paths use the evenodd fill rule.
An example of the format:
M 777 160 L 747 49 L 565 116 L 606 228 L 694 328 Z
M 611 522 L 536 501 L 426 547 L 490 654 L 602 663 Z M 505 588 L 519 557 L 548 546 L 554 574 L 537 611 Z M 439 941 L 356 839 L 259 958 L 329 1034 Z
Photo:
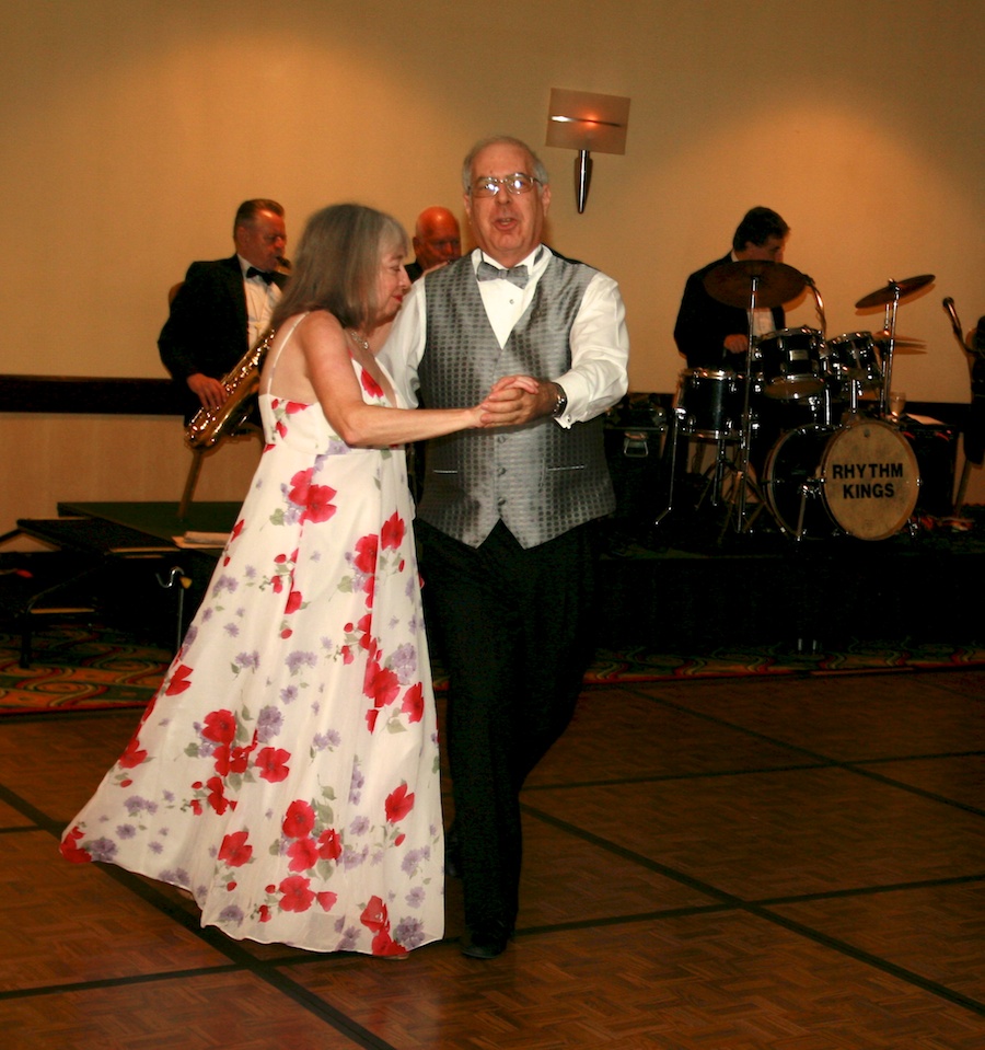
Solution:
M 707 499 L 726 509 L 722 534 L 730 526 L 748 532 L 764 508 L 796 540 L 883 540 L 905 528 L 919 469 L 888 405 L 894 351 L 923 344 L 896 338 L 896 311 L 932 280 L 930 274 L 890 280 L 855 304 L 885 308 L 881 332 L 827 338 L 818 289 L 792 266 L 742 259 L 710 270 L 709 295 L 749 311 L 749 349 L 742 371 L 681 373 L 665 446 L 668 504 L 658 523 L 673 508 L 679 451 L 696 441 L 715 446 L 698 505 Z M 804 287 L 813 293 L 820 330 L 754 333 L 753 311 L 789 302 Z

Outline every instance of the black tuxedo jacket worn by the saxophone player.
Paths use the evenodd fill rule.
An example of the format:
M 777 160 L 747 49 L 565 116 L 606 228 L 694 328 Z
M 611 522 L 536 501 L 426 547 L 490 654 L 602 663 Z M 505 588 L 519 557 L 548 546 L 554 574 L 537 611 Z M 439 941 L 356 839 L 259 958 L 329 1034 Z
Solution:
M 283 274 L 275 274 L 282 288 Z M 221 379 L 250 349 L 246 292 L 240 259 L 193 263 L 171 304 L 158 349 L 179 389 L 186 417 L 200 407 L 185 380 L 195 372 Z

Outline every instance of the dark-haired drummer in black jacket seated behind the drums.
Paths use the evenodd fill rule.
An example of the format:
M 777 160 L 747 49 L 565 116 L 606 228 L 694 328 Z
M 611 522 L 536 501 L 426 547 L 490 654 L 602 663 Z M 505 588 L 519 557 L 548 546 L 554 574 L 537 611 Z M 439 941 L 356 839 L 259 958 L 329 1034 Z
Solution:
M 705 276 L 722 263 L 761 259 L 783 263 L 790 228 L 770 208 L 751 208 L 732 236 L 732 251 L 692 274 L 684 286 L 674 341 L 687 359 L 688 368 L 742 372 L 749 350 L 749 310 L 726 305 L 705 288 Z M 778 332 L 784 327 L 783 307 L 753 311 L 753 335 Z

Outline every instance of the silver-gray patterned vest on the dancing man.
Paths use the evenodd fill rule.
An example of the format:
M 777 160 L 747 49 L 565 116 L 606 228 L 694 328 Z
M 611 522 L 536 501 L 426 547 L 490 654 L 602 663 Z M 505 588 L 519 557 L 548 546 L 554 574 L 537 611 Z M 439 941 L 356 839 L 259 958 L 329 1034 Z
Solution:
M 497 379 L 552 378 L 570 368 L 569 334 L 595 270 L 553 255 L 533 301 L 500 349 L 468 255 L 428 274 L 421 404 L 477 404 Z M 463 430 L 428 445 L 418 516 L 477 547 L 502 519 L 521 546 L 552 540 L 615 508 L 599 416 L 570 429 L 552 419 Z

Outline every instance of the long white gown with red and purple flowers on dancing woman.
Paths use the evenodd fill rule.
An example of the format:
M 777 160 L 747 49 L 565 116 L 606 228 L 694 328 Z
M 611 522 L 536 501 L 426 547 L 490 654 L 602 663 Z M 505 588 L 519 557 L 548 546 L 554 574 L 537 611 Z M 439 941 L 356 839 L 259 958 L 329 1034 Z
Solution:
M 61 852 L 189 890 L 231 937 L 402 955 L 444 931 L 404 451 L 349 448 L 317 404 L 263 394 L 260 411 L 267 445 L 201 608 Z

